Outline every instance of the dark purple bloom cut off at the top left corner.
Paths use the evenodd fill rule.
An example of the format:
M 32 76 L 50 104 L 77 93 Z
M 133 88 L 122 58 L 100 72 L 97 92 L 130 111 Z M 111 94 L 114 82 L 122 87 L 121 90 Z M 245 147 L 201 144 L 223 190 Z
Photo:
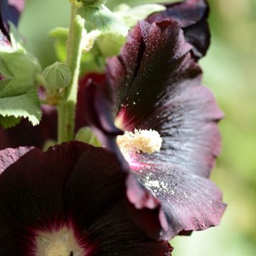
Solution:
M 0 1 L 0 30 L 9 36 L 9 21 L 17 26 L 18 18 L 24 9 L 24 0 L 1 0 Z

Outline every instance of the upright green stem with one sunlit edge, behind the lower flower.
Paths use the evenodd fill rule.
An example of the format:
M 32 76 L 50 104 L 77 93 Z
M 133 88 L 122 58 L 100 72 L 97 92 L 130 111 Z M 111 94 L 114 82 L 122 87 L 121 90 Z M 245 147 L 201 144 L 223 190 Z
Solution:
M 70 68 L 71 82 L 68 87 L 65 87 L 63 101 L 58 105 L 58 143 L 74 139 L 75 106 L 78 97 L 82 29 L 84 26 L 85 20 L 77 14 L 77 7 L 72 4 L 66 60 L 66 64 Z

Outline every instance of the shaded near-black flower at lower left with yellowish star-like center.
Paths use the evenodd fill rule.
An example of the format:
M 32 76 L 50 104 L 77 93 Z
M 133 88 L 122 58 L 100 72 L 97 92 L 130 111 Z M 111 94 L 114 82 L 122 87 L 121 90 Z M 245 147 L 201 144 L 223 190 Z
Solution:
M 132 222 L 119 162 L 105 149 L 5 149 L 0 169 L 0 255 L 171 255 Z

